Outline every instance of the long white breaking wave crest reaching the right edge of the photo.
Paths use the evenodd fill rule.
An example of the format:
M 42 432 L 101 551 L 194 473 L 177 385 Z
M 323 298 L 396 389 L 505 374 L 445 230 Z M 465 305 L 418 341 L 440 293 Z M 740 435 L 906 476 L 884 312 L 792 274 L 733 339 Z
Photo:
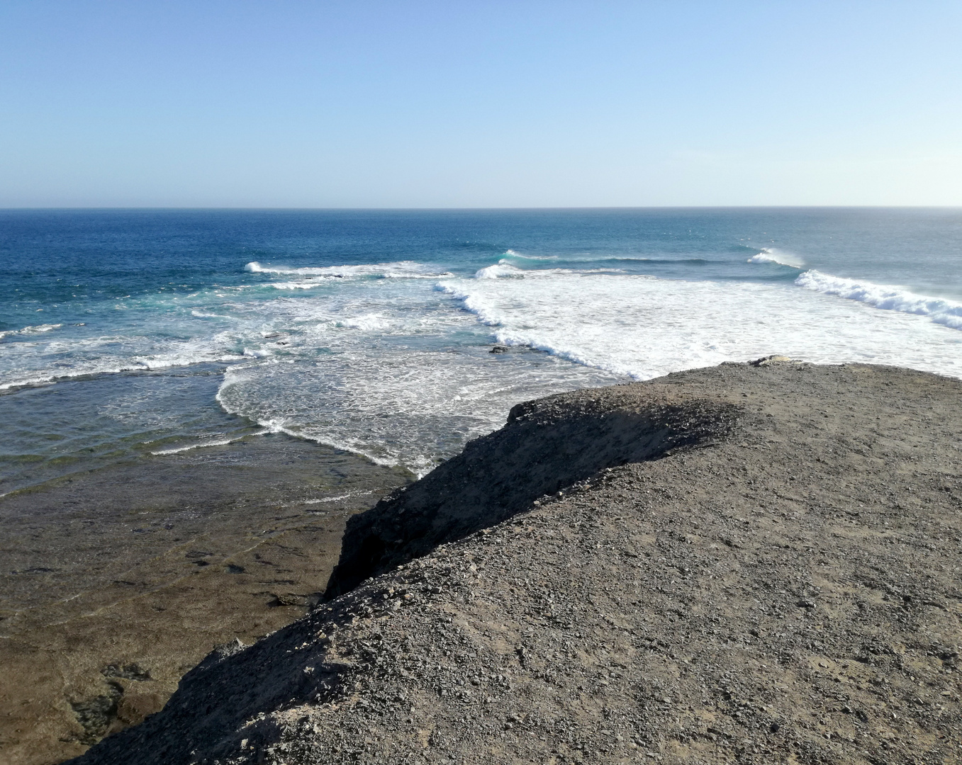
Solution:
M 814 268 L 800 274 L 795 283 L 815 292 L 856 300 L 873 308 L 927 316 L 936 324 L 945 325 L 953 330 L 962 330 L 962 304 L 943 298 L 919 295 L 904 287 L 843 279 L 831 274 L 823 274 Z

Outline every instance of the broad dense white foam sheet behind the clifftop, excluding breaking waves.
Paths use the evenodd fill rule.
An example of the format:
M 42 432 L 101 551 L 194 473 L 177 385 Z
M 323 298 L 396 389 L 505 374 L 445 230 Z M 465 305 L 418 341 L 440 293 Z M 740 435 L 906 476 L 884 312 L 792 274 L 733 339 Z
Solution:
M 791 285 L 528 271 L 442 286 L 500 343 L 636 379 L 772 353 L 962 377 L 962 342 L 945 327 Z

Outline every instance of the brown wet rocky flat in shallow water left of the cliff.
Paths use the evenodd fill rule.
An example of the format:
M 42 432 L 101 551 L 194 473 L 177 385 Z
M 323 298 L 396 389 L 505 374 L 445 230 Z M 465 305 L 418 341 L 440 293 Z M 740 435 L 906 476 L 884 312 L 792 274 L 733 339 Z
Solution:
M 402 481 L 262 436 L 0 500 L 0 762 L 83 753 L 160 710 L 216 645 L 302 616 L 346 518 Z

